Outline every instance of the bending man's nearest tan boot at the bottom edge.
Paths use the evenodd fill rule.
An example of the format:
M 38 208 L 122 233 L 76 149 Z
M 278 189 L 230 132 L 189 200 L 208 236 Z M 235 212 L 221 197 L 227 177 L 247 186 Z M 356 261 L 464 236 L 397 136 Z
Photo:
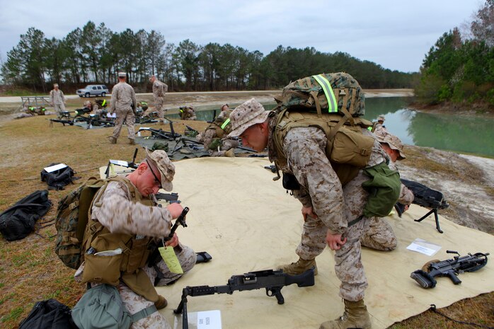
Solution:
M 367 306 L 365 306 L 364 300 L 347 301 L 346 299 L 343 299 L 343 301 L 345 301 L 345 312 L 343 312 L 343 316 L 340 316 L 333 321 L 321 323 L 319 329 L 370 329 L 371 323 L 369 312 L 367 312 Z

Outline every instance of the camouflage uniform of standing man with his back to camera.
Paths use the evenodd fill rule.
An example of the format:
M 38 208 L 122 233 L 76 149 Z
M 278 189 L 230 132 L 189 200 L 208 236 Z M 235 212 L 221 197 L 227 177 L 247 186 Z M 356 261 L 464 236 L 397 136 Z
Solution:
M 113 139 L 117 139 L 120 136 L 120 130 L 125 122 L 127 126 L 127 137 L 131 142 L 135 139 L 135 115 L 132 110 L 132 106 L 135 108 L 137 101 L 135 99 L 134 88 L 126 82 L 117 83 L 112 90 L 112 98 L 110 101 L 110 114 L 117 113 L 117 120 L 115 120 L 115 129 L 113 130 Z

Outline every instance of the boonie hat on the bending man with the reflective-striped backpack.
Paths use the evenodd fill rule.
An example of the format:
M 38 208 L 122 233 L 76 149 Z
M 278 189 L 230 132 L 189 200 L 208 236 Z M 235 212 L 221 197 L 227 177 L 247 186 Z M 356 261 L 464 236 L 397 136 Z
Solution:
M 231 132 L 228 137 L 240 136 L 248 127 L 265 122 L 269 111 L 266 111 L 261 103 L 255 98 L 247 100 L 237 106 L 230 114 Z

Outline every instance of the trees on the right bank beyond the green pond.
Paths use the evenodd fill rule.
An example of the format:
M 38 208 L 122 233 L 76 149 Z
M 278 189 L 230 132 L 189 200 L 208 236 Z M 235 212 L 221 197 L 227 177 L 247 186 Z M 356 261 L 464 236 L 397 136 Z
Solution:
M 493 27 L 494 0 L 487 0 L 463 33 L 454 28 L 437 40 L 420 68 L 420 103 L 494 106 Z

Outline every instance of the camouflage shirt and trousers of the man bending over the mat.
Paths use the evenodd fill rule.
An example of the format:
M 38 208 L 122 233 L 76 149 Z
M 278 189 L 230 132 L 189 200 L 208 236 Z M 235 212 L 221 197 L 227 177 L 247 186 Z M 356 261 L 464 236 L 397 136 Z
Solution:
M 275 161 L 272 131 L 276 117 L 270 120 L 268 150 L 270 161 Z M 371 134 L 362 129 L 364 134 Z M 326 248 L 326 233 L 339 233 L 347 242 L 335 250 L 335 272 L 340 279 L 340 296 L 348 301 L 360 301 L 364 298 L 367 278 L 361 261 L 360 238 L 369 228 L 368 219 L 363 217 L 350 227 L 347 223 L 362 215 L 368 193 L 362 183 L 369 178 L 362 171 L 345 186 L 326 157 L 326 134 L 316 127 L 292 128 L 283 141 L 283 151 L 287 156 L 287 168 L 284 173 L 293 173 L 299 182 L 300 190 L 294 191 L 294 197 L 304 205 L 312 207 L 318 218 L 308 216 L 304 222 L 301 242 L 296 253 L 300 258 L 316 258 Z M 375 141 L 372 155 L 367 166 L 375 166 L 385 160 L 386 154 L 379 142 Z

